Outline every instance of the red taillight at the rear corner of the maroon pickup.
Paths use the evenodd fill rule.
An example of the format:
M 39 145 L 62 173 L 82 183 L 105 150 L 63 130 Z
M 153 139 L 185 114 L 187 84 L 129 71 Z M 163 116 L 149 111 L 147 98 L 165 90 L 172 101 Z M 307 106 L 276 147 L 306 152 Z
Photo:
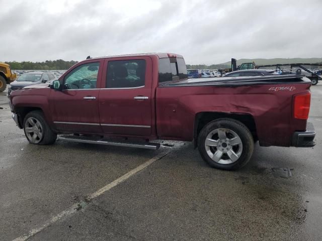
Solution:
M 310 111 L 311 92 L 294 95 L 294 118 L 307 119 Z

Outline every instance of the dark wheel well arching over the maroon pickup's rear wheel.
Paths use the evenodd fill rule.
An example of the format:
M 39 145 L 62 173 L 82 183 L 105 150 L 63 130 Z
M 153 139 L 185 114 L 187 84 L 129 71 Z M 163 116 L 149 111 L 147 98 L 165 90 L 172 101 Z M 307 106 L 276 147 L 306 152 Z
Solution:
M 258 140 L 254 117 L 248 113 L 223 113 L 223 112 L 200 112 L 196 114 L 194 125 L 194 146 L 197 147 L 197 140 L 200 131 L 209 122 L 219 118 L 231 118 L 243 123 L 252 133 L 254 140 Z

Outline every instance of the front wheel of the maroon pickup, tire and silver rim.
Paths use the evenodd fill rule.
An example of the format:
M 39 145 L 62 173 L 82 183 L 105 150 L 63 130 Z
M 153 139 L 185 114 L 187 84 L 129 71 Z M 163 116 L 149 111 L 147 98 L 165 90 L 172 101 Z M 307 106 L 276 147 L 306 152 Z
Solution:
M 41 111 L 29 112 L 24 119 L 24 132 L 31 144 L 50 145 L 53 144 L 57 135 L 50 129 Z

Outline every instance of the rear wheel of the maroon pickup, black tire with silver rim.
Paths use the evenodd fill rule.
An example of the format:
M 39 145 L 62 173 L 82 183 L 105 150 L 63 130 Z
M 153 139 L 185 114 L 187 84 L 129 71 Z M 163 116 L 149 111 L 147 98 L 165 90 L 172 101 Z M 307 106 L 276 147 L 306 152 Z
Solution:
M 218 131 L 218 139 L 216 139 L 216 133 Z M 224 134 L 224 136 L 227 138 L 225 140 L 227 141 L 222 141 L 224 139 L 219 139 L 219 131 Z M 214 134 L 212 134 L 214 133 Z M 219 141 L 216 143 L 216 147 L 209 147 L 206 145 L 206 138 L 207 136 L 214 135 L 210 139 L 214 142 Z M 229 139 L 232 137 L 231 139 Z M 239 138 L 239 139 L 236 139 Z M 240 144 L 236 145 L 235 143 L 232 142 L 233 139 L 239 140 L 238 143 Z M 209 137 L 208 137 L 209 140 Z M 223 143 L 226 143 L 225 146 Z M 229 144 L 231 143 L 231 145 Z M 206 150 L 208 148 L 208 150 Z M 219 150 L 222 148 L 221 150 Z M 237 170 L 241 167 L 244 167 L 249 160 L 251 159 L 254 151 L 254 140 L 251 132 L 249 129 L 242 123 L 235 121 L 234 119 L 230 118 L 220 118 L 216 119 L 215 121 L 212 121 L 208 123 L 199 133 L 198 136 L 198 150 L 203 158 L 204 161 L 206 161 L 211 167 L 217 168 L 217 169 L 222 169 L 222 170 Z M 241 150 L 241 151 L 240 151 Z M 214 161 L 209 154 L 214 154 L 217 153 L 217 151 L 221 151 L 222 156 L 219 154 L 219 162 L 226 162 L 226 163 L 218 163 Z M 231 152 L 232 151 L 232 152 Z M 229 153 L 228 153 L 229 152 Z M 209 153 L 209 154 L 208 154 Z M 232 161 L 230 156 L 233 154 L 238 154 L 238 158 L 236 159 L 236 156 L 233 156 L 233 159 L 236 159 Z M 215 155 L 213 155 L 214 157 Z M 216 158 L 215 158 L 216 159 Z M 217 160 L 218 161 L 218 160 Z M 232 163 L 230 163 L 232 162 Z

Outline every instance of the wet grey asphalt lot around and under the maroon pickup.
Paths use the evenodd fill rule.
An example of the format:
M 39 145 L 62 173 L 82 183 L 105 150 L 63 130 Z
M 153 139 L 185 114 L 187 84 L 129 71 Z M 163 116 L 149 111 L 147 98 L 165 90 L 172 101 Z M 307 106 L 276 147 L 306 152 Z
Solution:
M 80 202 L 28 240 L 322 240 L 322 83 L 311 91 L 316 146 L 257 144 L 250 163 L 234 172 L 210 168 L 191 143 L 158 151 L 28 144 L 11 118 L 7 93 L 0 93 L 0 240 L 27 234 Z M 272 168 L 289 168 L 292 176 L 276 176 Z

